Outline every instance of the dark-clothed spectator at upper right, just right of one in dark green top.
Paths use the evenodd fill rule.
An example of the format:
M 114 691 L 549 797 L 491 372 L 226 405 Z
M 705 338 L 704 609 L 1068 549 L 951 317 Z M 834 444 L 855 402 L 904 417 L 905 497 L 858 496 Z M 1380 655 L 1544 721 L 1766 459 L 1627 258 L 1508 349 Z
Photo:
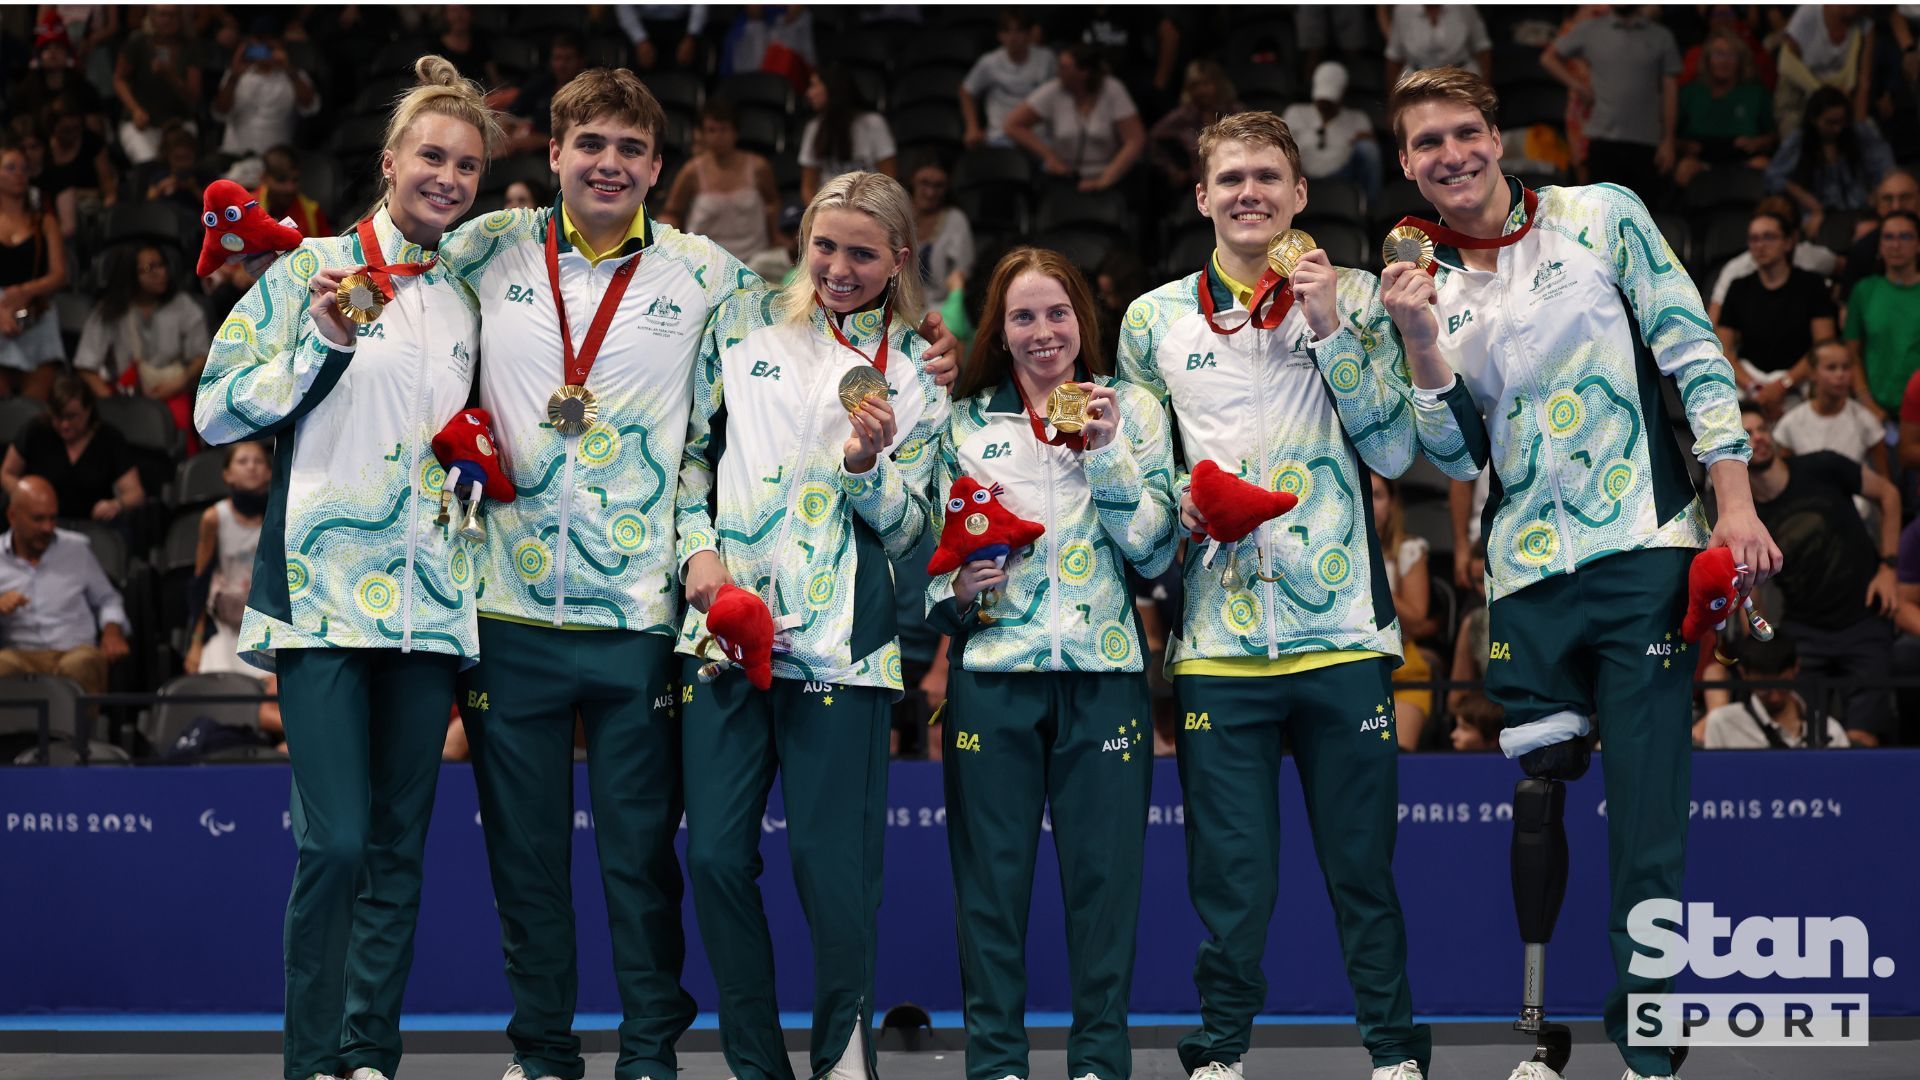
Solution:
M 1874 184 L 1893 171 L 1893 150 L 1874 121 L 1855 121 L 1847 96 L 1822 86 L 1807 98 L 1807 117 L 1788 133 L 1766 167 L 1766 190 L 1793 196 L 1816 236 L 1830 209 L 1864 209 Z

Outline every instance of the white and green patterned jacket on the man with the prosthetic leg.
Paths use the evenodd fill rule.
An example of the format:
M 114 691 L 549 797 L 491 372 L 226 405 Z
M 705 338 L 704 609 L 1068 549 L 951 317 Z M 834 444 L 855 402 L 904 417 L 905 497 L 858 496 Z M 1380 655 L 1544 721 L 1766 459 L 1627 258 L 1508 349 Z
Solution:
M 1513 213 L 1526 223 L 1519 181 Z M 1440 248 L 1440 352 L 1486 417 L 1486 598 L 1642 548 L 1705 548 L 1707 517 L 1668 434 L 1672 377 L 1693 454 L 1751 454 L 1740 398 L 1699 292 L 1640 196 L 1615 184 L 1544 188 L 1498 269 Z M 1486 455 L 1440 461 L 1473 479 Z

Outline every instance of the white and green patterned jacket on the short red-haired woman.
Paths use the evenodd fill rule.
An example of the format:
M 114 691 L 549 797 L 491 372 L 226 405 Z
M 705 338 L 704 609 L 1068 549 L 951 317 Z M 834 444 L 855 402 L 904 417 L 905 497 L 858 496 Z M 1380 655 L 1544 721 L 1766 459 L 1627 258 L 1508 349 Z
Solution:
M 931 528 L 954 477 L 1000 484 L 1000 505 L 1046 527 L 1008 559 L 991 625 L 977 601 L 954 601 L 958 571 L 927 586 L 927 619 L 960 646 L 966 671 L 1144 671 L 1125 563 L 1148 578 L 1173 563 L 1173 442 L 1152 394 L 1127 382 L 1116 392 L 1121 430 L 1089 452 L 1035 438 L 1012 377 L 954 404 Z

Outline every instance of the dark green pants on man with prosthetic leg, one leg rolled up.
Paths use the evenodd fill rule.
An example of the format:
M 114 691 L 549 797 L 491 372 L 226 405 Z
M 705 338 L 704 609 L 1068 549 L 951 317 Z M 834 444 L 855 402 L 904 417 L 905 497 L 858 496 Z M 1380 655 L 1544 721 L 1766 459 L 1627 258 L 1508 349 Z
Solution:
M 1626 915 L 1642 899 L 1680 899 L 1688 799 L 1693 786 L 1693 661 L 1680 640 L 1686 575 L 1697 552 L 1651 548 L 1607 555 L 1501 596 L 1486 609 L 1492 659 L 1486 694 L 1505 724 L 1576 713 L 1594 717 L 1607 784 L 1607 936 L 1617 982 L 1607 1038 L 1628 1068 L 1672 1072 L 1665 1047 L 1628 1045 L 1626 995 L 1670 994 L 1672 980 L 1626 970 Z

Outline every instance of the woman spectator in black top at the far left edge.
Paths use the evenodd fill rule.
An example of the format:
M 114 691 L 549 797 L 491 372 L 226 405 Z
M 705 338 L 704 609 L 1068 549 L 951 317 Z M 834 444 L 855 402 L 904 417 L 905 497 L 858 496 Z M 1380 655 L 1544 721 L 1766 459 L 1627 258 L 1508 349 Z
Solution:
M 67 359 L 48 302 L 67 284 L 60 219 L 27 179 L 27 154 L 0 146 L 0 380 L 10 394 L 44 398 Z

